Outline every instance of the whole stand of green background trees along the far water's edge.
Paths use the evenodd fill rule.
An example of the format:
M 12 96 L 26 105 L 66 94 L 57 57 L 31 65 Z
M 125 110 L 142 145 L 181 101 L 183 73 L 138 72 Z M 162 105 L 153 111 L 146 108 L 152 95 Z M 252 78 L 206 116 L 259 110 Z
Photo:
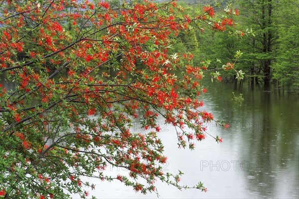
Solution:
M 228 1 L 224 1 L 228 2 Z M 204 1 L 180 1 L 185 14 L 196 13 Z M 208 3 L 208 2 L 207 2 Z M 243 56 L 235 68 L 246 73 L 249 83 L 270 83 L 278 88 L 299 89 L 299 2 L 297 0 L 235 0 L 231 7 L 237 8 L 240 17 L 235 25 L 223 32 L 200 28 L 181 33 L 175 49 L 190 50 L 194 64 L 200 64 L 203 57 L 211 59 L 212 67 L 221 63 L 234 62 L 234 52 L 240 50 Z M 216 4 L 214 5 L 216 6 Z M 218 8 L 223 4 L 218 4 Z M 238 31 L 245 34 L 240 36 Z M 252 33 L 253 32 L 253 33 Z M 206 35 L 209 35 L 207 37 Z M 236 36 L 239 39 L 236 39 Z M 196 38 L 195 38 L 196 37 Z M 217 62 L 218 60 L 218 62 Z M 234 80 L 235 73 L 222 73 L 226 80 Z M 244 81 L 246 81 L 246 79 Z

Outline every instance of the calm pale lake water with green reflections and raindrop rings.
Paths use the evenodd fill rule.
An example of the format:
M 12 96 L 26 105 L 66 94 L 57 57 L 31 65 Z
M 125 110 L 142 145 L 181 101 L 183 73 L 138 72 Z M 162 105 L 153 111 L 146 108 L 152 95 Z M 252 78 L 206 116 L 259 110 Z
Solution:
M 289 92 L 264 92 L 238 84 L 206 83 L 202 96 L 204 109 L 215 119 L 230 123 L 222 129 L 209 124 L 208 133 L 223 137 L 217 144 L 207 136 L 194 151 L 177 148 L 174 128 L 163 125 L 159 137 L 168 157 L 165 171 L 184 175 L 182 185 L 201 181 L 207 193 L 196 189 L 179 191 L 157 182 L 159 198 L 299 198 L 299 96 Z M 243 94 L 242 104 L 232 101 L 233 94 Z M 142 132 L 136 125 L 133 132 Z M 112 176 L 126 174 L 122 169 L 107 168 Z M 120 182 L 90 179 L 97 198 L 157 198 L 155 194 L 136 193 Z M 74 195 L 74 199 L 77 198 Z

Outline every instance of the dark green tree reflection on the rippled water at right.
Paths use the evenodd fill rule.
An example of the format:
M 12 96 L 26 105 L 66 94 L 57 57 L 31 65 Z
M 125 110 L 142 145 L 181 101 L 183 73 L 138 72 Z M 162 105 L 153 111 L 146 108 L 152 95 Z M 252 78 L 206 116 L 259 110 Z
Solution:
M 209 84 L 209 98 L 217 118 L 237 121 L 222 134 L 225 141 L 236 144 L 239 139 L 240 161 L 248 161 L 250 169 L 242 171 L 247 189 L 256 197 L 298 197 L 299 186 L 299 100 L 298 95 L 264 92 L 247 84 L 215 86 Z M 222 89 L 221 89 L 222 87 Z M 223 89 L 225 88 L 225 89 Z M 230 101 L 231 93 L 242 93 L 240 106 Z M 247 127 L 242 127 L 248 124 Z M 225 139 L 225 138 L 228 139 Z M 280 189 L 288 183 L 287 189 Z

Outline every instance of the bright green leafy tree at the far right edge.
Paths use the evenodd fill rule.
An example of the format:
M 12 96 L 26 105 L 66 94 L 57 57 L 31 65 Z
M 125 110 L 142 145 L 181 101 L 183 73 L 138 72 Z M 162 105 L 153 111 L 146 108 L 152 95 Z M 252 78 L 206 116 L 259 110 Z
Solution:
M 278 49 L 272 65 L 273 78 L 280 85 L 299 90 L 299 1 L 283 0 L 278 19 Z M 291 11 L 292 10 L 292 11 Z M 297 13 L 297 14 L 293 14 Z M 288 18 L 288 22 L 284 20 Z

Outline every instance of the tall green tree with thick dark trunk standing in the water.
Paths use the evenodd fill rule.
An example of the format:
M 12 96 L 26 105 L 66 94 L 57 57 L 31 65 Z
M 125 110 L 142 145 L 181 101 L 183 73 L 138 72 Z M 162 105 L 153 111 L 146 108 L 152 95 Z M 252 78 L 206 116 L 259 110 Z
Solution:
M 259 83 L 262 79 L 266 89 L 269 89 L 271 82 L 271 65 L 275 60 L 278 38 L 277 5 L 277 0 L 237 0 L 237 6 L 243 13 L 242 25 L 255 31 L 255 35 L 245 37 L 239 44 L 245 52 L 243 65 L 247 68 L 251 83 Z

